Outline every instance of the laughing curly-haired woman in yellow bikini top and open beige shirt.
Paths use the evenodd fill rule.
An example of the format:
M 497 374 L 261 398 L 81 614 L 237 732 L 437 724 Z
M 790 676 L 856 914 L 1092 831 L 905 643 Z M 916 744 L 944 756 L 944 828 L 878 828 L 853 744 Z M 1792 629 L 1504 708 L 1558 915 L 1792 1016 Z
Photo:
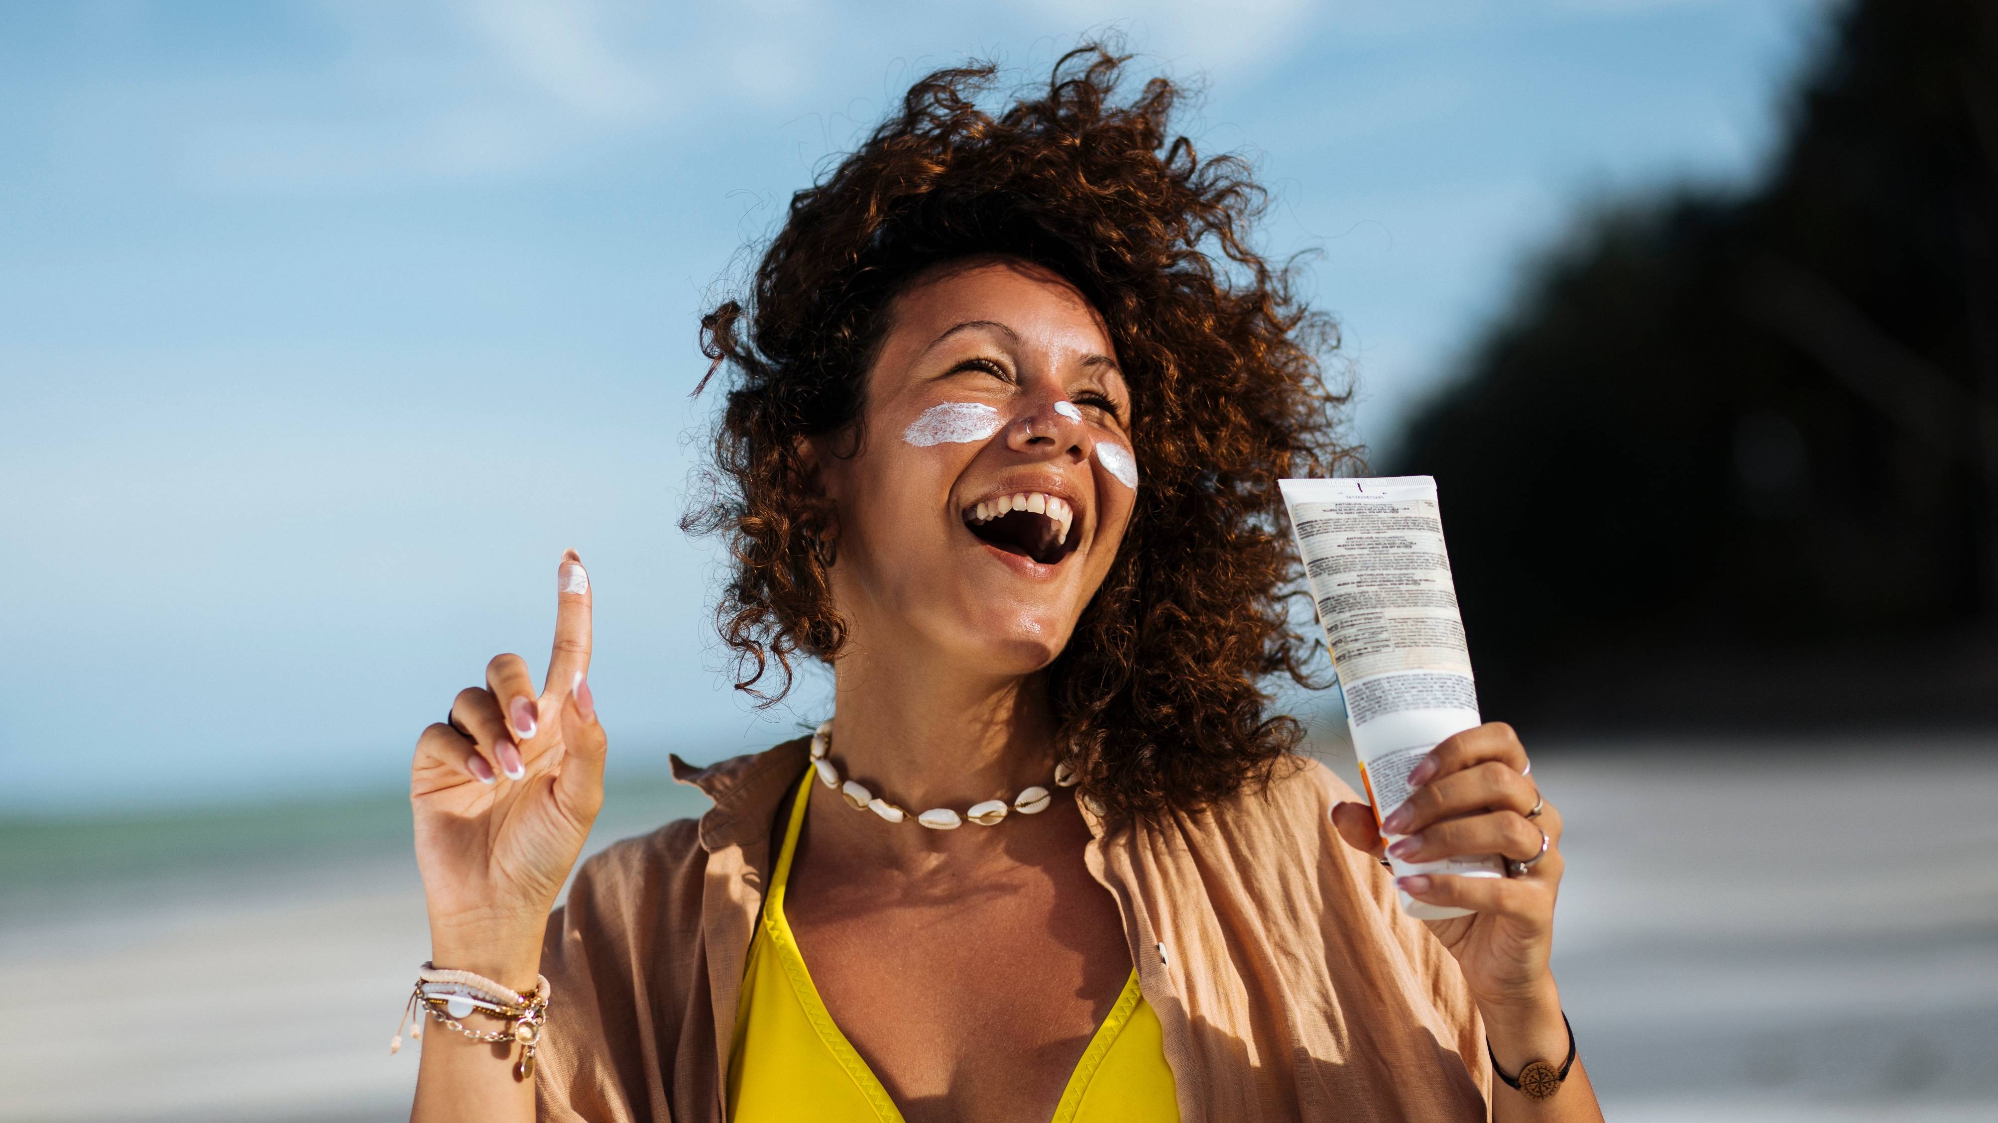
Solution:
M 1405 881 L 1477 909 L 1425 925 L 1267 713 L 1311 655 L 1277 480 L 1347 456 L 1333 334 L 1247 246 L 1247 170 L 1117 72 L 1075 52 L 999 116 L 991 70 L 925 78 L 703 320 L 733 388 L 689 526 L 731 542 L 739 689 L 831 663 L 817 735 L 675 759 L 715 807 L 549 919 L 605 753 L 579 558 L 545 683 L 500 655 L 424 731 L 434 963 L 484 979 L 426 1005 L 501 1041 L 434 1021 L 416 1119 L 1598 1119 L 1578 1063 L 1493 1079 L 1570 1049 L 1512 731 L 1439 745 L 1389 827 L 1544 857 Z

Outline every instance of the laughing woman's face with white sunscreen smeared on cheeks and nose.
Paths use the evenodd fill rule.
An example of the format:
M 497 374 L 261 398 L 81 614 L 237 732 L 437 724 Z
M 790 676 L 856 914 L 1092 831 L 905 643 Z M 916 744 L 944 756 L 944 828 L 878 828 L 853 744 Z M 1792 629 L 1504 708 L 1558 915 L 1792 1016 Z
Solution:
M 1059 276 L 971 260 L 895 298 L 859 452 L 815 442 L 851 641 L 973 673 L 1053 661 L 1131 518 L 1129 426 L 1109 332 Z

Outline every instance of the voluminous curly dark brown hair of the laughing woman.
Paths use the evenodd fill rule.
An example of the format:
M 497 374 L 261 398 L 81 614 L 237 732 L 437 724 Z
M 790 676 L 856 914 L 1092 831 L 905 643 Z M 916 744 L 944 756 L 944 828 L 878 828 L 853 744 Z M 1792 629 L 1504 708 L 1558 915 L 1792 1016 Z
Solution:
M 1083 46 L 997 114 L 979 108 L 995 66 L 937 70 L 791 198 L 749 296 L 701 318 L 707 378 L 729 368 L 731 390 L 711 496 L 681 526 L 729 542 L 721 637 L 735 687 L 773 703 L 799 653 L 831 661 L 845 641 L 835 512 L 797 438 L 857 440 L 885 310 L 911 278 L 971 256 L 1053 270 L 1109 328 L 1145 486 L 1047 693 L 1083 791 L 1145 815 L 1263 783 L 1299 743 L 1293 717 L 1267 713 L 1271 675 L 1315 685 L 1277 480 L 1331 474 L 1353 450 L 1323 368 L 1335 322 L 1295 296 L 1295 262 L 1249 244 L 1267 208 L 1251 166 L 1171 136 L 1185 90 L 1167 78 L 1119 102 L 1127 62 Z M 781 681 L 759 691 L 771 663 Z

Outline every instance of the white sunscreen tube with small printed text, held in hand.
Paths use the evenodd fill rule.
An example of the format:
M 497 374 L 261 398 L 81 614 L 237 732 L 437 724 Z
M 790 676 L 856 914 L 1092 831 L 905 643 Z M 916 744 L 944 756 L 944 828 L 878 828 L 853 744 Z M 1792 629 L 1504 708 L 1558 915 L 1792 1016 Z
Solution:
M 1379 825 L 1409 797 L 1409 773 L 1429 749 L 1479 725 L 1479 691 L 1457 613 L 1451 558 L 1443 550 L 1437 482 L 1393 476 L 1283 480 L 1279 486 L 1339 689 L 1347 695 L 1361 783 Z M 1504 877 L 1498 855 L 1389 861 L 1397 877 Z M 1419 919 L 1471 913 L 1425 905 L 1409 893 L 1401 895 L 1401 907 Z

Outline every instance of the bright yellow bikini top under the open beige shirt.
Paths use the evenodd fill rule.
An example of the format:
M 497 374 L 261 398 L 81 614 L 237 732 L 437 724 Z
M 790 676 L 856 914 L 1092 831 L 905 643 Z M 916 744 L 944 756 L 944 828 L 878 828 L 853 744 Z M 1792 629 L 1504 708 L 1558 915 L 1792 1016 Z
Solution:
M 763 919 L 749 941 L 749 965 L 735 1009 L 735 1041 L 729 1045 L 729 1119 L 901 1123 L 901 1111 L 887 1089 L 819 1001 L 791 925 L 783 919 L 783 885 L 791 875 L 791 851 L 797 849 L 809 797 L 811 783 L 805 779 L 791 801 L 791 821 L 783 829 L 777 871 L 763 899 Z M 1159 1015 L 1139 993 L 1137 971 L 1131 971 L 1109 1017 L 1075 1063 L 1053 1123 L 1113 1119 L 1179 1121 Z

